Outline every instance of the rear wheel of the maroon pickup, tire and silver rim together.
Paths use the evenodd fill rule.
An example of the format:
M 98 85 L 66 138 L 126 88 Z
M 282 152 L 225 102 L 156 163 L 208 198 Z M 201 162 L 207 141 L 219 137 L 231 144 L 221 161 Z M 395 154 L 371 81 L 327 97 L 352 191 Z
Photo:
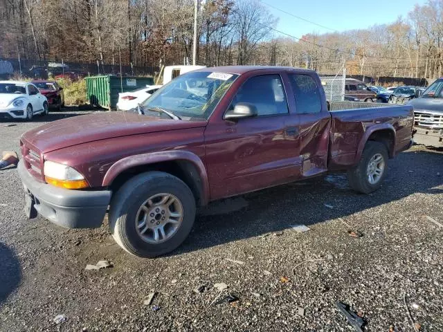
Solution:
M 388 167 L 388 151 L 381 142 L 368 141 L 356 167 L 347 172 L 350 187 L 369 194 L 379 189 Z

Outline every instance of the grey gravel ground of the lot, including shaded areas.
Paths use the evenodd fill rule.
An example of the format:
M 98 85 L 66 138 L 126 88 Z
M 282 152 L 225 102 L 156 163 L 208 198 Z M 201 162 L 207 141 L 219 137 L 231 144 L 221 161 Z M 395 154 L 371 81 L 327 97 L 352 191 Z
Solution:
M 18 150 L 39 121 L 78 113 L 1 123 L 0 151 Z M 215 203 L 157 259 L 130 256 L 106 225 L 27 221 L 16 169 L 0 171 L 0 187 L 0 331 L 353 331 L 337 301 L 365 331 L 443 331 L 443 229 L 426 217 L 443 223 L 441 150 L 400 154 L 369 196 L 338 174 Z M 114 267 L 84 270 L 101 259 Z M 239 301 L 211 305 L 226 295 Z

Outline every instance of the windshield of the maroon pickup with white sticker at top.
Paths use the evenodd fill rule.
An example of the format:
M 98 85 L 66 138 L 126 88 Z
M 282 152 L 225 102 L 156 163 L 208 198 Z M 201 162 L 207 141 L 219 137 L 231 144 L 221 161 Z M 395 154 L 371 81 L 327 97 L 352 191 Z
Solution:
M 143 102 L 144 109 L 163 109 L 180 118 L 205 118 L 238 75 L 198 71 L 174 78 Z

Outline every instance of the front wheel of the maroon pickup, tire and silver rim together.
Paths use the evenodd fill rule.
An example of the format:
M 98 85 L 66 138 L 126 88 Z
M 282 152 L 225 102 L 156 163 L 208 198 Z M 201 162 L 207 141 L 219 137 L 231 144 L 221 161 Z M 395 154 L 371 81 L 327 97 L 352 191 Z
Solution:
M 116 242 L 138 257 L 180 246 L 195 219 L 195 199 L 179 178 L 146 172 L 127 181 L 111 200 L 109 227 Z

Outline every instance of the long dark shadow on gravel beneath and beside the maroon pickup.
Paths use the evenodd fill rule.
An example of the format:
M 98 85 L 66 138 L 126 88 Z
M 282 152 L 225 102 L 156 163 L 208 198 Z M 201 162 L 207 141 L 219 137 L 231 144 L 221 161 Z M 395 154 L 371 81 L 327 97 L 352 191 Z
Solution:
M 220 210 L 215 203 L 197 216 L 190 236 L 171 255 L 281 232 L 293 224 L 314 225 L 345 219 L 356 212 L 416 193 L 443 194 L 443 189 L 438 188 L 443 184 L 442 158 L 438 151 L 428 150 L 399 154 L 390 160 L 383 186 L 369 195 L 352 191 L 347 185 L 346 174 L 331 174 L 245 194 L 240 202 L 235 202 L 236 211 Z

